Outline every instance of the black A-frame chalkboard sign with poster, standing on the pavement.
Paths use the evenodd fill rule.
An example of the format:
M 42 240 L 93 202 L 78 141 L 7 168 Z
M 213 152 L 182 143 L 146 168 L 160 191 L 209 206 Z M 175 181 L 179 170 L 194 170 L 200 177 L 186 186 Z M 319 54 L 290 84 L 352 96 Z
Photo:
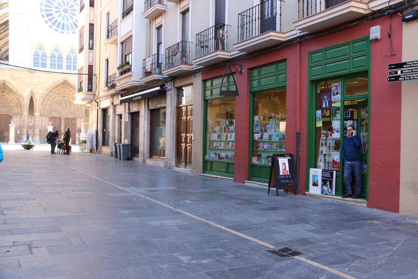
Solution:
M 296 189 L 293 154 L 273 154 L 267 194 L 270 194 L 270 188 L 276 188 L 276 196 L 279 195 L 279 189 L 286 189 L 286 193 L 288 189 Z

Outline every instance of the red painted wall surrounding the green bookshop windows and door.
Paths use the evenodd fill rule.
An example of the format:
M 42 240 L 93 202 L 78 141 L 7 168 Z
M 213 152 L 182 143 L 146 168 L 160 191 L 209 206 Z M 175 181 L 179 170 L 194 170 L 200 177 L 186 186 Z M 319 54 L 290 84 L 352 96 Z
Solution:
M 399 212 L 400 179 L 400 113 L 401 83 L 387 83 L 386 66 L 402 60 L 402 22 L 398 15 L 392 18 L 392 40 L 395 55 L 389 56 L 390 17 L 383 16 L 320 38 L 313 38 L 301 44 L 301 97 L 300 113 L 296 115 L 297 44 L 271 51 L 249 59 L 235 62 L 242 64 L 244 73 L 237 74 L 240 96 L 236 97 L 235 131 L 235 182 L 248 179 L 248 139 L 250 131 L 249 68 L 274 61 L 287 59 L 287 99 L 286 99 L 286 151 L 296 154 L 296 121 L 301 127 L 300 193 L 305 193 L 306 185 L 306 122 L 308 92 L 308 51 L 343 43 L 363 36 L 369 36 L 370 27 L 381 26 L 382 38 L 371 42 L 371 78 L 369 108 L 369 195 L 368 207 Z M 223 74 L 224 68 L 202 73 L 202 79 Z M 252 122 L 251 122 L 252 123 Z M 242 140 L 241 140 L 242 139 Z M 245 139 L 245 140 L 244 140 Z

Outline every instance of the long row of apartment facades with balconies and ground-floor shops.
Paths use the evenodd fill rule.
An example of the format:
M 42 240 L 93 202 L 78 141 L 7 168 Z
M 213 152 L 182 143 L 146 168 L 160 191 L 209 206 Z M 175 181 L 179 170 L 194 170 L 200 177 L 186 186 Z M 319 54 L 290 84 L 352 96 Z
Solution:
M 84 97 L 101 153 L 128 143 L 142 163 L 258 186 L 272 155 L 290 153 L 300 194 L 326 197 L 310 174 L 329 169 L 329 198 L 418 215 L 417 81 L 386 73 L 417 59 L 417 23 L 402 17 L 415 1 L 102 3 L 88 16 L 97 44 L 84 56 L 97 74 Z M 347 125 L 362 140 L 359 200 L 341 198 Z

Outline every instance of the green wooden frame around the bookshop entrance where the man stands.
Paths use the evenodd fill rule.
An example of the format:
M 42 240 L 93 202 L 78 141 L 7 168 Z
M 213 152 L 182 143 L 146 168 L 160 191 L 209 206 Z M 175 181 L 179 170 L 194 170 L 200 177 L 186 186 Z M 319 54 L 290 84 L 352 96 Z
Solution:
M 341 86 L 341 111 L 344 111 L 344 101 L 366 99 L 369 110 L 369 131 L 370 135 L 370 38 L 365 36 L 341 44 L 328 46 L 308 52 L 308 117 L 307 117 L 307 142 L 306 142 L 306 192 L 309 192 L 309 169 L 316 168 L 316 138 L 315 110 L 316 110 L 316 84 L 331 78 L 340 78 Z M 367 75 L 368 93 L 363 95 L 346 96 L 345 84 L 347 79 Z M 344 127 L 344 117 L 341 117 L 341 127 Z M 358 125 L 358 124 L 357 124 Z M 343 132 L 342 132 L 343 133 Z M 370 141 L 368 147 L 367 164 L 370 165 Z M 340 157 L 342 155 L 340 154 Z M 342 158 L 340 158 L 342 161 Z M 343 193 L 342 164 L 336 177 L 336 196 Z M 368 198 L 369 171 L 367 171 L 364 181 L 367 185 L 365 189 L 366 200 Z M 363 188 L 364 190 L 364 188 Z M 363 192 L 362 190 L 362 192 Z

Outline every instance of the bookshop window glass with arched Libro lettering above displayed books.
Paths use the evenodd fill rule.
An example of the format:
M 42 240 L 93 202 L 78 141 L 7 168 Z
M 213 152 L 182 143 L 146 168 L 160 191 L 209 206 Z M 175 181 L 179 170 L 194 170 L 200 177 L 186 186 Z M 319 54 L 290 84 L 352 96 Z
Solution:
M 252 119 L 251 163 L 270 166 L 286 150 L 286 89 L 254 94 Z

